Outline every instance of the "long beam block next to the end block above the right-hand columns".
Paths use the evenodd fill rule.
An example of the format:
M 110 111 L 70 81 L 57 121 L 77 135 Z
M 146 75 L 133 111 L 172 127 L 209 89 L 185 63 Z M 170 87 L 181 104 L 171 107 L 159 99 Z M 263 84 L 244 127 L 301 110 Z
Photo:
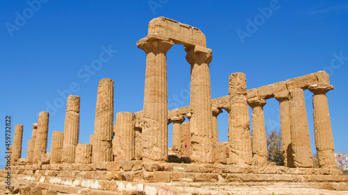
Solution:
M 286 80 L 287 90 L 294 90 L 300 88 L 302 90 L 307 90 L 309 85 L 314 85 L 318 83 L 318 78 L 316 73 L 306 74 L 304 76 L 299 76 L 296 78 L 291 78 Z

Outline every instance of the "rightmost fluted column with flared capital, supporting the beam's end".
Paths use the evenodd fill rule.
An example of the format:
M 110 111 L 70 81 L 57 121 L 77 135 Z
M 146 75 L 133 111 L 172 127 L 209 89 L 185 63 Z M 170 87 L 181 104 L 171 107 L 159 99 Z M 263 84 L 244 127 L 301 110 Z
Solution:
M 331 119 L 326 92 L 333 90 L 329 84 L 310 85 L 308 90 L 313 92 L 313 119 L 315 147 L 317 149 L 318 162 L 320 168 L 336 169 L 335 156 L 333 154 L 333 135 L 331 129 Z

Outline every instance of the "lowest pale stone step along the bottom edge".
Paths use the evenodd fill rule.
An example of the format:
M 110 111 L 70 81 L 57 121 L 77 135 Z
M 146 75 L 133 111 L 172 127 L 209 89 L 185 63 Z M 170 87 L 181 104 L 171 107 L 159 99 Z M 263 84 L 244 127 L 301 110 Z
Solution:
M 0 180 L 3 178 L 0 178 Z M 16 180 L 19 185 L 38 185 L 63 194 L 347 194 L 339 183 L 127 183 L 116 182 L 113 191 L 74 187 L 32 180 Z M 319 186 L 320 185 L 320 186 Z M 347 183 L 345 183 L 347 185 Z M 347 189 L 347 187 L 346 187 Z M 45 190 L 43 192 L 45 192 Z M 342 189 L 341 189 L 342 190 Z

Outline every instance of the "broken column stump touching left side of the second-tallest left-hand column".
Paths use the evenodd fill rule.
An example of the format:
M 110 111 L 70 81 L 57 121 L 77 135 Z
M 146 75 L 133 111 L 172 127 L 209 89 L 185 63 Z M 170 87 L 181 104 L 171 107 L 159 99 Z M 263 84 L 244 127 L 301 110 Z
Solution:
M 63 132 L 54 131 L 52 133 L 52 142 L 51 142 L 51 163 L 52 164 L 57 164 L 62 162 L 63 138 L 64 138 Z

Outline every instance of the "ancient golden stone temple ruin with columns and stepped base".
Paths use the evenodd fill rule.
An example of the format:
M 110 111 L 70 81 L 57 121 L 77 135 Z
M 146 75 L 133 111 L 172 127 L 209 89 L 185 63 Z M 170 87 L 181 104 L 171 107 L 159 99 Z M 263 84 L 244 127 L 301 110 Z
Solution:
M 191 65 L 190 105 L 168 110 L 166 53 L 173 44 L 184 45 Z M 79 96 L 68 96 L 65 129 L 53 132 L 50 153 L 48 112 L 40 112 L 33 124 L 26 158 L 21 158 L 23 126 L 17 125 L 11 162 L 13 192 L 232 194 L 241 187 L 247 192 L 265 186 L 282 186 L 285 194 L 298 194 L 301 189 L 348 190 L 348 177 L 336 169 L 333 155 L 326 98 L 333 86 L 325 71 L 250 90 L 245 74 L 232 73 L 228 95 L 212 99 L 212 49 L 207 49 L 205 35 L 198 28 L 155 18 L 148 35 L 136 45 L 147 56 L 143 110 L 115 115 L 113 80 L 103 78 L 98 83 L 94 135 L 89 144 L 79 144 Z M 313 92 L 317 169 L 313 168 L 303 90 Z M 267 161 L 263 108 L 272 98 L 280 106 L 285 166 Z M 217 117 L 222 110 L 229 113 L 228 142 L 219 142 Z M 168 149 L 170 123 L 173 147 Z M 1 171 L 2 180 L 6 172 Z

